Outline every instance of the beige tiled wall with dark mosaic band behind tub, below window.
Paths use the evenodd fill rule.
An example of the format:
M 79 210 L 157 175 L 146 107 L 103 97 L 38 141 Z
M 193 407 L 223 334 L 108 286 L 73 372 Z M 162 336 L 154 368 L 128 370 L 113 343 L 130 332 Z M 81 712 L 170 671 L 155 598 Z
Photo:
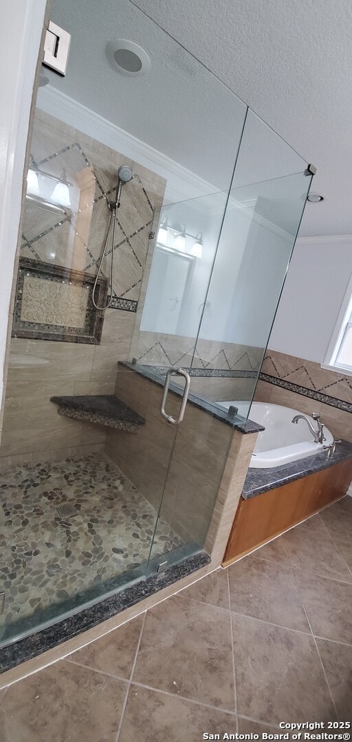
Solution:
M 278 381 L 284 386 L 278 386 Z M 319 412 L 336 438 L 352 441 L 351 376 L 268 349 L 255 401 L 284 404 L 307 414 Z

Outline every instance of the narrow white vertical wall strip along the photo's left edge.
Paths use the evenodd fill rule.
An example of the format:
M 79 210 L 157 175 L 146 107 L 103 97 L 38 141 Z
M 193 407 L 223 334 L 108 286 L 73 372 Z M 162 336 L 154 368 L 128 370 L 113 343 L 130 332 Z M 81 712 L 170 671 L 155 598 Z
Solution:
M 2 0 L 0 24 L 0 399 L 30 102 L 45 0 Z

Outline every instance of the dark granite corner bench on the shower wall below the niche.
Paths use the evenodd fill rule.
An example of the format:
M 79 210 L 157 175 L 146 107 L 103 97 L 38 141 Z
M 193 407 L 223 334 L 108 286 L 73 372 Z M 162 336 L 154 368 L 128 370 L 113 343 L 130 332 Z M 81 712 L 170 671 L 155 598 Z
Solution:
M 114 394 L 73 395 L 69 397 L 50 397 L 57 404 L 58 413 L 65 417 L 95 422 L 128 433 L 137 433 L 146 420 L 128 407 Z

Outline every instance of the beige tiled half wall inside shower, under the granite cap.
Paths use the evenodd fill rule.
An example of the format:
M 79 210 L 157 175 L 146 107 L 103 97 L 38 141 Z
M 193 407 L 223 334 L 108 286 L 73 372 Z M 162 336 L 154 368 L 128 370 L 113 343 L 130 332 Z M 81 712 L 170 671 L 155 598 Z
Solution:
M 189 404 L 174 447 L 175 427 L 166 425 L 160 416 L 159 385 L 122 366 L 115 392 L 146 418 L 146 425 L 137 436 L 111 430 L 106 453 L 154 507 L 160 504 L 167 477 L 163 518 L 182 539 L 203 545 L 232 441 L 232 427 Z M 168 413 L 177 415 L 180 398 L 169 393 L 167 404 Z

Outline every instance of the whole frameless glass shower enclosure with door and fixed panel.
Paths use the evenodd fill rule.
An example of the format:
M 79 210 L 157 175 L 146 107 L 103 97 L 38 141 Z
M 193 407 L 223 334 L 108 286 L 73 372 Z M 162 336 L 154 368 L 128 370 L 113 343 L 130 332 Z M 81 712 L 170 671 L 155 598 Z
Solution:
M 84 25 L 51 4 L 73 43 L 64 78 L 45 70 L 30 132 L 0 447 L 2 646 L 210 551 L 312 177 L 134 4 L 118 9 L 120 36 L 150 58 L 140 77 L 105 55 L 108 0 L 79 2 Z M 133 177 L 112 239 L 120 165 Z

